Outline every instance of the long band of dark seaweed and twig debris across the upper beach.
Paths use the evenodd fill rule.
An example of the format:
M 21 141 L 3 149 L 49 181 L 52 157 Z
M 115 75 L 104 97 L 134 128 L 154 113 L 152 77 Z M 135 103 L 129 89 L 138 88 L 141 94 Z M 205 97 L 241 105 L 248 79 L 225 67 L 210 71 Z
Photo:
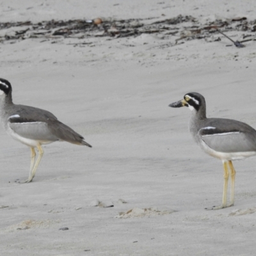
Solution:
M 145 19 L 148 20 L 148 19 Z M 33 24 L 31 21 L 26 22 L 2 22 L 1 29 L 13 28 L 15 32 L 10 31 L 4 36 L 0 36 L 0 42 L 8 40 L 26 40 L 27 38 L 92 38 L 97 36 L 108 36 L 111 38 L 122 38 L 128 36 L 140 36 L 142 33 L 157 33 L 162 38 L 169 38 L 173 35 L 180 35 L 176 39 L 193 40 L 209 38 L 213 34 L 230 31 L 247 31 L 253 33 L 256 31 L 256 20 L 248 21 L 245 17 L 231 20 L 215 20 L 202 26 L 194 17 L 179 15 L 172 19 L 163 19 L 151 24 L 143 24 L 143 19 L 111 20 L 103 21 L 100 24 L 93 24 L 88 20 L 50 20 Z M 248 35 L 246 35 L 248 36 Z M 253 33 L 252 36 L 255 36 Z M 235 42 L 228 38 L 237 47 L 241 47 L 241 42 Z M 255 40 L 255 38 L 244 40 L 243 42 Z M 44 42 L 44 41 L 42 41 Z

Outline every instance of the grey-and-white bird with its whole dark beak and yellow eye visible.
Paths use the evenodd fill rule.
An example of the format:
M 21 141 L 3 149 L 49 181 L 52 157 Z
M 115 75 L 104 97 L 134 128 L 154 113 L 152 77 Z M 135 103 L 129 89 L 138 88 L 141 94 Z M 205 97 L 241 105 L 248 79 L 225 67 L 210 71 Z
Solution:
M 191 92 L 184 99 L 169 105 L 172 108 L 188 107 L 191 112 L 189 131 L 196 143 L 210 156 L 221 159 L 224 168 L 222 204 L 217 210 L 234 205 L 236 171 L 232 160 L 244 159 L 256 154 L 256 131 L 250 125 L 237 120 L 207 118 L 205 99 L 200 93 Z M 228 172 L 228 168 L 229 171 Z M 231 177 L 230 203 L 227 204 L 228 177 Z

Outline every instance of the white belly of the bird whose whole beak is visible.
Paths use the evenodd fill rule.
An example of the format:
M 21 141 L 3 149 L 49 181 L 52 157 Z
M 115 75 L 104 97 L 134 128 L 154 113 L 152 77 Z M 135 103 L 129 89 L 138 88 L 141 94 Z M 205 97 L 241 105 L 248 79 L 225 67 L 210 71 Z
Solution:
M 200 146 L 202 149 L 209 154 L 212 157 L 216 157 L 221 160 L 239 160 L 244 159 L 246 157 L 255 156 L 255 151 L 249 151 L 249 152 L 218 152 L 211 147 L 207 146 L 204 141 L 200 143 Z

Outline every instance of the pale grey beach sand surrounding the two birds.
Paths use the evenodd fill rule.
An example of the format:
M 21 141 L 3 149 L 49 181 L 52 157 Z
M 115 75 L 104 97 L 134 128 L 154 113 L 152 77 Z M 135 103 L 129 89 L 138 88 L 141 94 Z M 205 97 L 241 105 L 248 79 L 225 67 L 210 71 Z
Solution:
M 0 8 L 0 22 L 256 19 L 253 0 L 16 0 Z M 243 31 L 231 35 L 236 40 Z M 170 40 L 155 34 L 93 37 L 84 47 L 68 45 L 74 38 L 0 44 L 0 77 L 12 83 L 13 101 L 51 111 L 93 145 L 45 146 L 33 182 L 16 184 L 28 177 L 29 148 L 0 129 L 0 254 L 254 255 L 255 157 L 234 163 L 236 205 L 205 211 L 221 203 L 221 161 L 195 145 L 189 109 L 168 108 L 200 92 L 209 117 L 256 127 L 256 42 L 237 49 L 220 37 L 165 48 L 159 45 Z M 114 207 L 92 206 L 97 200 Z M 115 218 L 145 208 L 169 213 Z

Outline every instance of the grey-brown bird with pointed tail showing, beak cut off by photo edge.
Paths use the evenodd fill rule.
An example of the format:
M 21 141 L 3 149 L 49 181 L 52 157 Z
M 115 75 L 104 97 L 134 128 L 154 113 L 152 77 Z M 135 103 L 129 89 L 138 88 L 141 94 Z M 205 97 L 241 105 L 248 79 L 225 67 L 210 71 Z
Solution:
M 33 108 L 24 105 L 16 105 L 12 102 L 12 86 L 3 78 L 0 78 L 0 118 L 6 132 L 14 140 L 28 145 L 31 149 L 31 165 L 28 180 L 35 177 L 36 169 L 44 150 L 42 144 L 54 141 L 67 141 L 77 145 L 92 147 L 84 141 L 83 136 L 62 124 L 56 116 L 44 109 Z M 35 163 L 35 147 L 39 156 Z

